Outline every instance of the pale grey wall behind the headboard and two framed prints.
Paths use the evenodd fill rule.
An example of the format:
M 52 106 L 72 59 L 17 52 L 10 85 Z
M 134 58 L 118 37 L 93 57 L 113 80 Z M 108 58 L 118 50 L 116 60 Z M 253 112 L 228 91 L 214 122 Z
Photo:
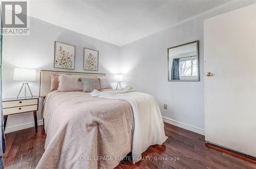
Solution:
M 22 85 L 20 81 L 13 81 L 13 69 L 15 67 L 34 68 L 37 70 L 36 81 L 29 82 L 32 93 L 39 94 L 39 70 L 60 70 L 53 68 L 54 41 L 65 42 L 76 46 L 75 70 L 78 72 L 90 72 L 82 69 L 83 47 L 99 50 L 99 71 L 106 73 L 110 81 L 114 79 L 114 73 L 118 70 L 120 47 L 103 42 L 62 27 L 30 18 L 29 36 L 4 36 L 3 45 L 3 98 L 16 97 Z M 71 70 L 72 71 L 72 70 Z M 91 71 L 94 72 L 95 71 Z M 24 96 L 24 93 L 21 93 Z M 41 120 L 42 101 L 40 100 L 38 121 Z M 20 126 L 21 125 L 21 126 Z M 8 116 L 6 132 L 33 126 L 33 114 Z

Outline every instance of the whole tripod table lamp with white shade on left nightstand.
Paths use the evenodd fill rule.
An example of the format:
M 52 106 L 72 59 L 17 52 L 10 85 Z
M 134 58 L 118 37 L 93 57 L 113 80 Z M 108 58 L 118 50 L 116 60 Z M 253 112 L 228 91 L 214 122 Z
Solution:
M 35 69 L 14 68 L 13 80 L 23 81 L 22 88 L 24 87 L 25 99 L 27 97 L 27 87 L 29 89 L 31 97 L 33 97 L 28 81 L 35 81 L 35 72 L 36 72 Z M 22 91 L 22 88 L 20 88 L 18 96 L 19 96 L 20 92 Z M 17 96 L 17 98 L 18 98 L 18 96 Z

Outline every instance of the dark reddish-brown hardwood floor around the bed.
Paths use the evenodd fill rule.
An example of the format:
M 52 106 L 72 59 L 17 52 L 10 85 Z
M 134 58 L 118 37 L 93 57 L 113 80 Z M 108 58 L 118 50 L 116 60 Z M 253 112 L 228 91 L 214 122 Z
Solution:
M 204 136 L 164 123 L 169 137 L 162 146 L 151 146 L 143 161 L 122 161 L 117 168 L 256 168 L 256 164 L 205 147 Z M 35 168 L 44 153 L 46 134 L 42 126 L 6 134 L 5 168 Z M 179 157 L 179 160 L 154 160 Z M 153 159 L 153 160 L 152 160 Z M 169 158 L 170 159 L 170 158 Z

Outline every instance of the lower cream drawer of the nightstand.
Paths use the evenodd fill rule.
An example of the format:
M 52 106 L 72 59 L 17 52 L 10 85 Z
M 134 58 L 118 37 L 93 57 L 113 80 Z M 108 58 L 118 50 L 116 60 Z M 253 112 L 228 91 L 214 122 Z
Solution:
M 29 106 L 4 108 L 3 109 L 3 115 L 18 114 L 20 112 L 36 111 L 36 110 L 37 110 L 37 104 L 36 105 L 29 105 Z

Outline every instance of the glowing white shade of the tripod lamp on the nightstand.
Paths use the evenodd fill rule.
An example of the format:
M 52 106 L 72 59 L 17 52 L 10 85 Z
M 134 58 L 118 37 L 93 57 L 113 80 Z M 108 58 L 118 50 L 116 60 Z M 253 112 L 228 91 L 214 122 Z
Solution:
M 13 80 L 35 81 L 35 69 L 14 68 Z

